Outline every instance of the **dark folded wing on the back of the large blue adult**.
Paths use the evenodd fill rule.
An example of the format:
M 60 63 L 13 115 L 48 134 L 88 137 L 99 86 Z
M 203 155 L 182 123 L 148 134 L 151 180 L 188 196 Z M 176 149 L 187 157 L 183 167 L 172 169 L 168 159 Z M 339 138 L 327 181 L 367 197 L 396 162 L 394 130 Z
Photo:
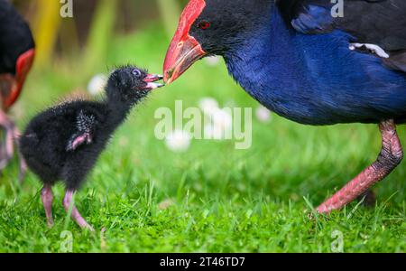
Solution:
M 279 7 L 297 32 L 344 31 L 353 42 L 366 44 L 359 49 L 369 49 L 389 68 L 406 72 L 405 0 L 280 0 Z M 380 49 L 384 53 L 377 53 Z

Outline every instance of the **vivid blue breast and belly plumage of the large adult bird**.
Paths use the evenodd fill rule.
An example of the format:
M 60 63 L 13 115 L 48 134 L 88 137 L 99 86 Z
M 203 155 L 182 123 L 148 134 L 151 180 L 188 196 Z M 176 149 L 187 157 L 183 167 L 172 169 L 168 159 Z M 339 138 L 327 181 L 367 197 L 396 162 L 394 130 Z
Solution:
M 406 74 L 349 50 L 348 33 L 298 33 L 278 9 L 264 22 L 225 58 L 235 80 L 265 107 L 309 125 L 406 121 Z

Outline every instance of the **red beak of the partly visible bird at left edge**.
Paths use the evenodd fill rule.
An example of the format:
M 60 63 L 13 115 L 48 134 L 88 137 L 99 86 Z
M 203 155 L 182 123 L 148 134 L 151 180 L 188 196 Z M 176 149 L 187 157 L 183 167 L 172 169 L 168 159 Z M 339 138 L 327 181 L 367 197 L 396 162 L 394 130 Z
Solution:
M 11 88 L 10 93 L 3 99 L 3 107 L 5 109 L 13 106 L 14 102 L 20 96 L 25 79 L 27 78 L 28 72 L 31 70 L 34 57 L 34 49 L 25 51 L 17 60 L 14 78 L 11 75 L 3 76 L 3 79 L 8 81 L 8 85 Z

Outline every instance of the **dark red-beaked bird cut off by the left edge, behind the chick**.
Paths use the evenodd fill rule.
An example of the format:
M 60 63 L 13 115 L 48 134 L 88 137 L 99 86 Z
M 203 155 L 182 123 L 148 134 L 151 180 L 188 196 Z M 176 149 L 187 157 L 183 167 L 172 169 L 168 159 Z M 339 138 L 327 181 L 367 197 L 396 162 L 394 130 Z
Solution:
M 0 0 L 0 126 L 5 130 L 5 143 L 0 144 L 0 171 L 14 154 L 14 138 L 19 134 L 6 113 L 19 97 L 34 59 L 32 33 L 13 5 Z M 20 160 L 20 178 L 25 166 Z

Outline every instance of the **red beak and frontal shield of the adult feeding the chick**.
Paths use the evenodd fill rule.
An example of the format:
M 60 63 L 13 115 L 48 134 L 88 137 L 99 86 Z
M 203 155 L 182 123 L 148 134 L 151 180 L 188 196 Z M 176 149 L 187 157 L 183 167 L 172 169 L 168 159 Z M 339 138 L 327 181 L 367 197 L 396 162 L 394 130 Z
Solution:
M 207 55 L 198 41 L 189 35 L 192 23 L 206 6 L 205 0 L 191 0 L 180 16 L 180 23 L 163 64 L 164 82 L 170 84 L 189 69 L 194 62 Z

